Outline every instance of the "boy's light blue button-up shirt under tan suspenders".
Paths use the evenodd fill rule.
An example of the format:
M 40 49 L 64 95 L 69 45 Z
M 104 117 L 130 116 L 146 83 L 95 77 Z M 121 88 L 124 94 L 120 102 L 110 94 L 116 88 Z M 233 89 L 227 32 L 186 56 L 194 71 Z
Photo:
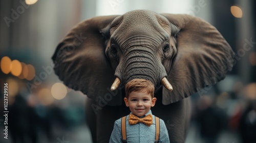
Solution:
M 131 113 L 130 113 L 131 114 Z M 145 115 L 152 114 L 151 110 L 148 111 Z M 156 138 L 156 121 L 155 115 L 153 116 L 153 124 L 148 127 L 143 123 L 137 123 L 135 125 L 130 125 L 128 122 L 129 115 L 126 116 L 126 140 L 128 143 L 154 143 Z M 110 137 L 110 143 L 121 143 L 122 134 L 121 134 L 121 118 L 115 121 L 114 129 Z M 159 142 L 168 143 L 169 136 L 164 121 L 160 119 L 160 134 Z

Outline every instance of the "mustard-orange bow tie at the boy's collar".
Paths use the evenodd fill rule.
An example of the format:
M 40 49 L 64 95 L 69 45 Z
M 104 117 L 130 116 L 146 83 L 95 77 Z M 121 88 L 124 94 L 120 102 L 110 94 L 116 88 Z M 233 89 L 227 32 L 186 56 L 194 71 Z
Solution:
M 128 121 L 129 121 L 130 125 L 134 125 L 134 124 L 137 124 L 137 123 L 143 123 L 146 126 L 150 126 L 150 125 L 153 124 L 153 117 L 152 117 L 151 114 L 148 114 L 143 118 L 139 118 L 138 116 L 136 116 L 134 114 L 130 114 Z

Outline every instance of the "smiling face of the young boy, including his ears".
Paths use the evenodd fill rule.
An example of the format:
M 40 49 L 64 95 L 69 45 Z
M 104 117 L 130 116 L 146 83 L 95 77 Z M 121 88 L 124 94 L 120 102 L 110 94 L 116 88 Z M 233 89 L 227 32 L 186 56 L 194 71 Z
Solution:
M 146 92 L 132 91 L 129 98 L 124 98 L 124 102 L 131 112 L 137 116 L 143 116 L 150 108 L 155 106 L 156 98 L 152 98 L 151 94 Z

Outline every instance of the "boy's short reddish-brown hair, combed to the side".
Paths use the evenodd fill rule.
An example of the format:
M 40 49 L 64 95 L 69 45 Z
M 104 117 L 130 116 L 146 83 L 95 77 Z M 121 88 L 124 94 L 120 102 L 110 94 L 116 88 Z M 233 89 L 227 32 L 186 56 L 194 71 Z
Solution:
M 125 97 L 129 98 L 129 94 L 133 91 L 146 92 L 147 94 L 151 94 L 151 97 L 154 98 L 155 86 L 148 80 L 133 79 L 125 85 Z

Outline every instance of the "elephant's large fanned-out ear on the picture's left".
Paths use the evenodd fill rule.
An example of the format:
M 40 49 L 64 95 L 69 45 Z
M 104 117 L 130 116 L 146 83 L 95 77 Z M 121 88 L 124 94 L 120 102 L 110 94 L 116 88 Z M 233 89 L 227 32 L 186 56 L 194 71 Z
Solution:
M 101 30 L 116 16 L 84 20 L 72 28 L 58 44 L 52 57 L 55 74 L 68 87 L 80 90 L 102 106 L 120 105 L 121 91 L 110 90 L 114 71 L 105 56 L 107 39 Z

